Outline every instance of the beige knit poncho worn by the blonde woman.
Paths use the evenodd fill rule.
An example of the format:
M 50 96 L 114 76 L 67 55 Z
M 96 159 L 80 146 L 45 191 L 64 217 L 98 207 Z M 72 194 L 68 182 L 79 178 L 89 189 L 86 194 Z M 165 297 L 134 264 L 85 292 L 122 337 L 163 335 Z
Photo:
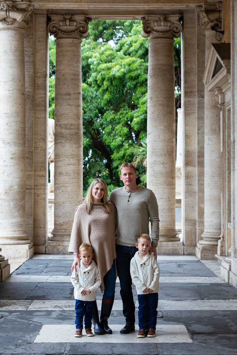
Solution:
M 104 275 L 111 269 L 116 258 L 116 209 L 113 203 L 109 203 L 109 208 L 110 213 L 105 213 L 103 203 L 94 202 L 94 207 L 88 214 L 84 209 L 84 203 L 80 204 L 74 216 L 68 247 L 69 253 L 79 253 L 82 243 L 92 245 L 99 270 L 101 292 L 104 291 Z

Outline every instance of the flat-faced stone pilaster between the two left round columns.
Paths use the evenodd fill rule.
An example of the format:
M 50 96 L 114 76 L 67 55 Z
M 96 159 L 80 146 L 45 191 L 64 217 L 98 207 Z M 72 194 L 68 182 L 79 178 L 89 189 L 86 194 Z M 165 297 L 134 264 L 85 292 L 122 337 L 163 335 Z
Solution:
M 48 240 L 49 35 L 47 10 L 34 15 L 34 229 L 35 253 Z

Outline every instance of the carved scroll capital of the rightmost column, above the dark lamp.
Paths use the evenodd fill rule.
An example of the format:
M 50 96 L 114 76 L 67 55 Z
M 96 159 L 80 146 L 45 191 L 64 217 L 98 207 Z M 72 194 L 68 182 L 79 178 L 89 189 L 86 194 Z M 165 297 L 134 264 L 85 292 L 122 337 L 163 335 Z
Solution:
M 203 5 L 196 6 L 196 11 L 200 16 L 201 27 L 203 29 L 210 29 L 211 26 L 216 24 L 218 27 L 221 27 L 221 9 L 222 1 L 214 2 L 213 4 L 204 3 Z

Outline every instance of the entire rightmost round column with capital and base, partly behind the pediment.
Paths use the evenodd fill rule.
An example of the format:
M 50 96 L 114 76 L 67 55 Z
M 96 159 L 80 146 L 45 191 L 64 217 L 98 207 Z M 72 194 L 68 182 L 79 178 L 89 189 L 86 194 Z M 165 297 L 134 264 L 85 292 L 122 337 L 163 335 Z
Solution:
M 221 27 L 221 4 L 196 6 L 201 27 L 205 30 L 205 65 L 211 43 L 219 43 L 211 27 Z M 220 28 L 219 28 L 220 29 Z M 197 243 L 196 255 L 200 259 L 214 259 L 221 235 L 221 152 L 220 152 L 220 109 L 215 92 L 205 86 L 204 118 L 204 232 Z

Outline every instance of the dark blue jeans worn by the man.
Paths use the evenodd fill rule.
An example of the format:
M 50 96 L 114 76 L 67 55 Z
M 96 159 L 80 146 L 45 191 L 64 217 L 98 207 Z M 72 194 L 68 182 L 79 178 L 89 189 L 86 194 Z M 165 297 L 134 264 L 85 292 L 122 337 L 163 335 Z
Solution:
M 120 281 L 120 295 L 123 301 L 123 315 L 126 323 L 135 324 L 135 304 L 133 300 L 130 261 L 138 249 L 135 246 L 116 245 L 116 267 Z

